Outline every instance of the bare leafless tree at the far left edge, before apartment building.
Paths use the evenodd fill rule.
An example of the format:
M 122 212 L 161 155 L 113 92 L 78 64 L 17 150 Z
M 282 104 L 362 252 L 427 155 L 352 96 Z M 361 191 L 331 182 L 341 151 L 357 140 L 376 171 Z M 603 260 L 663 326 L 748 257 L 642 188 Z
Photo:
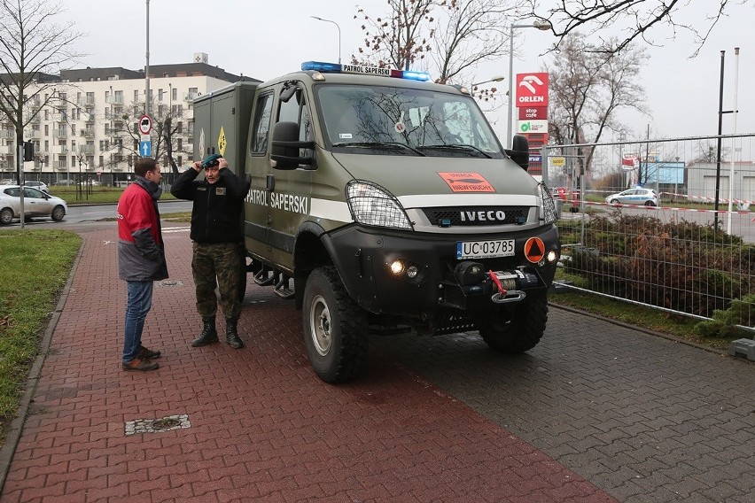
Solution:
M 16 145 L 35 114 L 56 99 L 50 92 L 59 86 L 54 75 L 79 56 L 72 47 L 82 35 L 74 23 L 54 22 L 64 11 L 49 0 L 0 0 L 0 112 L 16 129 Z M 19 182 L 20 166 L 17 162 Z

